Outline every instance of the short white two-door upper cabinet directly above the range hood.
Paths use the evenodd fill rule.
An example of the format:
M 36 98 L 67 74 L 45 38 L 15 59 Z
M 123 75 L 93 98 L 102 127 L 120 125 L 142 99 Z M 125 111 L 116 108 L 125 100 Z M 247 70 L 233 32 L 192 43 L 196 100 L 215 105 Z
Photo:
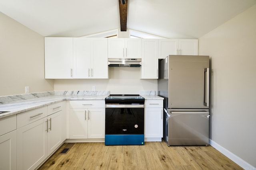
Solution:
M 140 38 L 108 38 L 108 58 L 141 58 Z

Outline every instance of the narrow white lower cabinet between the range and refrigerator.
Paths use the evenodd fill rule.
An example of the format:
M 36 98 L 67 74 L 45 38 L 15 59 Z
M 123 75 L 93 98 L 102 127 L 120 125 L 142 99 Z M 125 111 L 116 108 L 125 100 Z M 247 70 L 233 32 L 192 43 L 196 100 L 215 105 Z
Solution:
M 145 141 L 162 141 L 163 100 L 145 100 Z

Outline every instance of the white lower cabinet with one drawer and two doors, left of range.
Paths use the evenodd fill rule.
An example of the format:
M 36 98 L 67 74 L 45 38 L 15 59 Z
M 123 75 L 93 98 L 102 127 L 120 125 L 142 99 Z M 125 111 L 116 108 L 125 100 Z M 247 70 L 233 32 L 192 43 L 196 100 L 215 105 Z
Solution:
M 104 100 L 70 101 L 70 139 L 105 138 Z

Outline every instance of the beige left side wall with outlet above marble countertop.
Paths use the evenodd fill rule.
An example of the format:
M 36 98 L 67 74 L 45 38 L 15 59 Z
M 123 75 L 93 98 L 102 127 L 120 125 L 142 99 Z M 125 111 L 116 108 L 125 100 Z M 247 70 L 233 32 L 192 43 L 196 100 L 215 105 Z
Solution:
M 0 12 L 0 96 L 54 90 L 44 79 L 44 37 Z

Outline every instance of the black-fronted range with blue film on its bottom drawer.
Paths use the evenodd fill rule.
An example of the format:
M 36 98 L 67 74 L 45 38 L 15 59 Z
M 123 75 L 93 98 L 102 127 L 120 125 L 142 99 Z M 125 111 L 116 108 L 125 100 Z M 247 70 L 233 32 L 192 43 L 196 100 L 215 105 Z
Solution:
M 105 98 L 105 145 L 144 145 L 144 103 L 138 94 Z

